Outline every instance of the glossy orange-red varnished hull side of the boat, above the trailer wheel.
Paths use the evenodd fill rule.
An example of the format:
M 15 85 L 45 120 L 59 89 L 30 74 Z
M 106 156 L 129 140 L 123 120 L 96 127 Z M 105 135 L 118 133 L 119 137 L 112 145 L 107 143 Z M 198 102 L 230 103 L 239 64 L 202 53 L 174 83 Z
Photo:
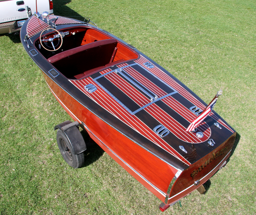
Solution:
M 60 104 L 74 120 L 77 121 L 79 119 L 80 123 L 83 122 L 86 124 L 89 130 L 100 139 L 102 143 L 107 145 L 115 155 L 129 164 L 158 189 L 167 192 L 170 181 L 177 172 L 176 169 L 106 124 L 71 96 L 67 95 L 65 91 L 58 87 L 48 76 L 44 75 L 44 77 L 50 89 L 54 92 L 56 99 L 62 102 L 60 102 Z M 75 116 L 77 118 L 69 110 L 76 113 Z M 92 138 L 96 140 L 94 136 L 92 136 Z M 139 181 L 141 182 L 142 180 L 140 179 Z M 148 185 L 144 185 L 148 187 Z

